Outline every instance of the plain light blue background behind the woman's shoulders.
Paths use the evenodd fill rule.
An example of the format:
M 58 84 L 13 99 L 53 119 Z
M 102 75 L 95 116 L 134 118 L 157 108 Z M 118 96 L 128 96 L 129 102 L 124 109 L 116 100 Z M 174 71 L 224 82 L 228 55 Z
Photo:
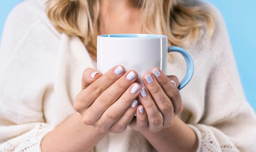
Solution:
M 23 0 L 0 0 L 0 35 L 8 13 Z M 222 13 L 247 100 L 256 110 L 256 0 L 206 0 Z

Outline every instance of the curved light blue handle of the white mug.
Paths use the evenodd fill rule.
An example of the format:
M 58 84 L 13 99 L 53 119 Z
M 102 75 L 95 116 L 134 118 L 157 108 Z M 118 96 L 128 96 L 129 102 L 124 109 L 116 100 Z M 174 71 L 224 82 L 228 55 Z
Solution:
M 186 61 L 186 75 L 180 81 L 180 85 L 178 86 L 178 89 L 180 90 L 183 87 L 185 87 L 191 80 L 193 73 L 194 73 L 194 64 L 193 64 L 192 58 L 189 55 L 189 53 L 180 47 L 168 46 L 168 53 L 169 52 L 179 52 L 180 54 L 182 54 L 182 56 L 184 57 L 184 59 Z

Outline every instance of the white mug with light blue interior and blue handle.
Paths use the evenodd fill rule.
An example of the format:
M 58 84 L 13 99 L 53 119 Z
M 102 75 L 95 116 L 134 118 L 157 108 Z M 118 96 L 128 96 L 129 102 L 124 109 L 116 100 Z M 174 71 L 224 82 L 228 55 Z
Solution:
M 97 69 L 106 73 L 115 65 L 123 65 L 126 70 L 133 69 L 138 73 L 137 82 L 144 86 L 142 76 L 150 69 L 159 67 L 165 74 L 167 54 L 179 52 L 186 61 L 186 74 L 177 87 L 185 87 L 191 80 L 194 65 L 191 56 L 177 46 L 167 46 L 165 35 L 153 34 L 109 34 L 97 36 Z

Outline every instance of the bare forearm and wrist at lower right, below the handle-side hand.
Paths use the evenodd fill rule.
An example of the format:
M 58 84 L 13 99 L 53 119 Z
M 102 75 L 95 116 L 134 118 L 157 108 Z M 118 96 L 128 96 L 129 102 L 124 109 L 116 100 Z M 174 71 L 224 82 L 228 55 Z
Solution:
M 188 151 L 198 149 L 198 138 L 195 132 L 179 117 L 174 118 L 173 126 L 158 132 L 139 131 L 158 151 Z

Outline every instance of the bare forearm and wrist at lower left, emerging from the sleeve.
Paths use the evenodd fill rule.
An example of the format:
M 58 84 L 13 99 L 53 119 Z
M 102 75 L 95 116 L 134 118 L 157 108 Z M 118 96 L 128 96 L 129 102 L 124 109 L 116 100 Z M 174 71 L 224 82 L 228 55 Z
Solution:
M 81 115 L 74 113 L 45 135 L 41 149 L 43 152 L 90 151 L 106 134 L 83 124 Z

